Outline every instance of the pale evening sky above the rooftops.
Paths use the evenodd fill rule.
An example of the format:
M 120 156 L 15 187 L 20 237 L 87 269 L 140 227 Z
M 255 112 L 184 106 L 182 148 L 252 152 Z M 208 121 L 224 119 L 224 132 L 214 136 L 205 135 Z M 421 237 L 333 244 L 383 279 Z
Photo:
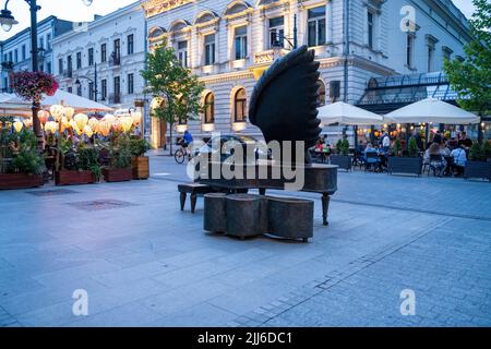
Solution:
M 453 1 L 467 17 L 470 17 L 474 11 L 471 0 Z M 5 0 L 0 0 L 2 9 L 4 2 Z M 94 19 L 94 14 L 105 15 L 133 2 L 135 0 L 93 0 L 92 5 L 87 8 L 82 0 L 38 0 L 38 4 L 41 7 L 38 12 L 38 21 L 53 14 L 62 20 L 87 22 Z M 11 0 L 9 10 L 20 23 L 9 33 L 0 29 L 0 40 L 4 40 L 31 25 L 28 5 L 24 0 Z

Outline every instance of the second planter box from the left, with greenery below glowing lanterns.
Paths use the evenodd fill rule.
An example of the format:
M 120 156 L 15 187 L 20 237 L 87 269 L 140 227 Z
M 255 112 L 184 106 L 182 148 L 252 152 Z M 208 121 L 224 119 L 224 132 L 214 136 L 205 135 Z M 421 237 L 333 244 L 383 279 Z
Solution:
M 55 173 L 57 185 L 95 183 L 100 178 L 98 152 L 92 147 L 73 148 L 72 141 L 61 140 L 60 152 L 63 154 L 61 169 Z

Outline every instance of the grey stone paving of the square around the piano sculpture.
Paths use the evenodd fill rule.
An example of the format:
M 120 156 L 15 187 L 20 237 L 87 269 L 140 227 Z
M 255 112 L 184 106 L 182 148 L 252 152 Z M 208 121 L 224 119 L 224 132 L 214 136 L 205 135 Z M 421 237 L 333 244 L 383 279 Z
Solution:
M 202 200 L 179 210 L 184 167 L 153 156 L 152 172 L 0 192 L 1 326 L 491 325 L 487 182 L 339 172 L 328 227 L 296 194 L 316 205 L 297 243 L 206 234 Z

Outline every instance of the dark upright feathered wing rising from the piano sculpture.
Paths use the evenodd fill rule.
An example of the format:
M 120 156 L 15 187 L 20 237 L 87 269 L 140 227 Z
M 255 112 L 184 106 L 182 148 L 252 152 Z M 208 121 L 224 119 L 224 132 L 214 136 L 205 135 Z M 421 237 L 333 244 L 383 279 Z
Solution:
M 266 142 L 303 141 L 306 151 L 321 133 L 318 119 L 319 62 L 302 46 L 278 59 L 252 93 L 249 119 Z M 306 152 L 306 163 L 310 163 Z

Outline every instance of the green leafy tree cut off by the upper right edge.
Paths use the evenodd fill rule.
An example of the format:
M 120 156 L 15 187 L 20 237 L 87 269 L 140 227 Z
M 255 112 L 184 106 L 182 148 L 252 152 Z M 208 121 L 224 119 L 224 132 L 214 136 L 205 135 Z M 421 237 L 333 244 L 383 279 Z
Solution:
M 458 93 L 458 105 L 484 116 L 491 110 L 491 2 L 472 0 L 472 3 L 476 7 L 470 20 L 472 40 L 464 47 L 466 58 L 445 61 L 444 70 Z

